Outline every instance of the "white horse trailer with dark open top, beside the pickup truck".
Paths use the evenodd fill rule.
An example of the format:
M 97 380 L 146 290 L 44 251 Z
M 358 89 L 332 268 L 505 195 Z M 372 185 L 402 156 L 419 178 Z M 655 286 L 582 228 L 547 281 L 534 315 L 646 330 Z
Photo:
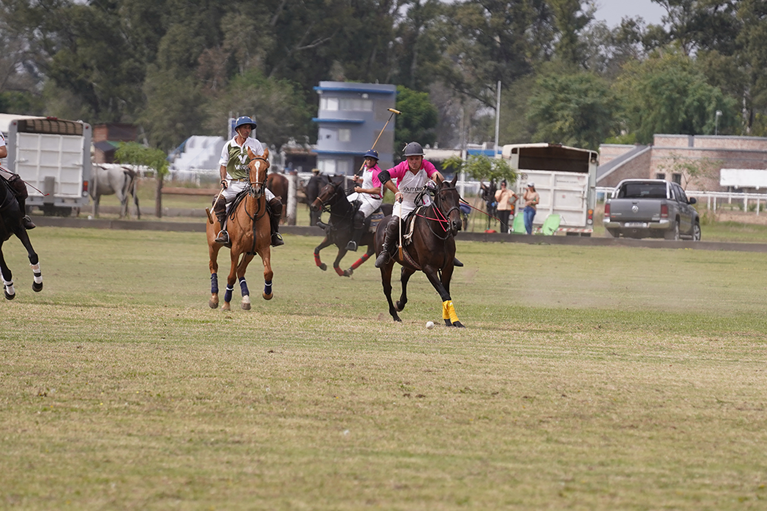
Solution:
M 524 208 L 521 198 L 525 186 L 532 182 L 541 196 L 534 226 L 541 226 L 551 215 L 559 215 L 558 232 L 591 236 L 597 204 L 596 151 L 560 144 L 510 144 L 503 146 L 502 156 L 518 172 L 518 215 Z

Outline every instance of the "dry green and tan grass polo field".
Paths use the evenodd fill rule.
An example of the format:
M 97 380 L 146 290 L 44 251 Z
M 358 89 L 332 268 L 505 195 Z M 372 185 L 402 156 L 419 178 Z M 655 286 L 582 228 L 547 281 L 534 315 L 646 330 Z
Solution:
M 467 328 L 427 330 L 423 274 L 393 323 L 316 237 L 225 313 L 203 234 L 31 234 L 41 293 L 4 245 L 0 509 L 767 504 L 765 254 L 459 241 Z

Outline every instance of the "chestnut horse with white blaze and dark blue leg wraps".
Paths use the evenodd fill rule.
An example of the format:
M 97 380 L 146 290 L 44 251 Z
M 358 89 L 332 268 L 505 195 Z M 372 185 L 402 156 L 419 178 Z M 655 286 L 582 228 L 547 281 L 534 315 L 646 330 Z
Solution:
M 242 290 L 242 309 L 250 309 L 250 291 L 245 282 L 245 269 L 255 254 L 261 256 L 264 263 L 264 300 L 272 300 L 272 230 L 269 223 L 269 214 L 266 210 L 266 196 L 264 194 L 266 171 L 269 168 L 269 150 L 264 149 L 262 156 L 255 156 L 248 149 L 250 188 L 242 200 L 232 201 L 231 211 L 227 213 L 226 230 L 229 232 L 229 241 L 232 249 L 232 269 L 226 279 L 226 292 L 224 293 L 224 305 L 222 310 L 230 310 L 232 292 L 235 280 L 239 279 Z M 221 231 L 219 220 L 216 215 L 209 216 L 206 224 L 208 236 L 208 251 L 210 254 L 210 301 L 211 309 L 219 306 L 219 277 L 218 257 L 223 244 L 216 243 L 216 236 Z M 242 256 L 242 258 L 241 258 Z

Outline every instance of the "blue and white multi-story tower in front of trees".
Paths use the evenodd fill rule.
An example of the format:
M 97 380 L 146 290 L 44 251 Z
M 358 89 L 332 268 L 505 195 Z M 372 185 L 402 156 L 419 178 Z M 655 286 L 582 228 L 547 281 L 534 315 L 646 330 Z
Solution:
M 352 175 L 362 166 L 362 155 L 381 133 L 375 149 L 381 169 L 393 166 L 394 124 L 387 125 L 397 100 L 397 86 L 320 82 L 314 87 L 320 97 L 317 167 L 325 174 Z

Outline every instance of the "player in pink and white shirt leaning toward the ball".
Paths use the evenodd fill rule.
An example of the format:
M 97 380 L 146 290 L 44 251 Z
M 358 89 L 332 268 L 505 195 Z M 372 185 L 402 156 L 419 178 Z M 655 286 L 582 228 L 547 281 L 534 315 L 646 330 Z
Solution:
M 375 263 L 377 268 L 387 264 L 390 257 L 397 251 L 397 233 L 400 229 L 400 221 L 407 225 L 408 216 L 419 206 L 416 205 L 416 197 L 423 198 L 423 205 L 430 205 L 429 195 L 420 193 L 424 186 L 433 186 L 432 179 L 435 177 L 439 177 L 439 181 L 445 180 L 432 162 L 423 159 L 423 147 L 420 143 L 410 142 L 407 144 L 404 156 L 406 158 L 404 162 L 400 162 L 392 169 L 384 170 L 378 175 L 381 184 L 394 192 L 394 200 L 399 201 L 400 205 L 399 207 L 395 205 L 389 224 L 387 224 L 384 244 Z M 392 181 L 395 177 L 397 178 L 397 185 Z M 453 265 L 461 267 L 463 263 L 455 259 Z

